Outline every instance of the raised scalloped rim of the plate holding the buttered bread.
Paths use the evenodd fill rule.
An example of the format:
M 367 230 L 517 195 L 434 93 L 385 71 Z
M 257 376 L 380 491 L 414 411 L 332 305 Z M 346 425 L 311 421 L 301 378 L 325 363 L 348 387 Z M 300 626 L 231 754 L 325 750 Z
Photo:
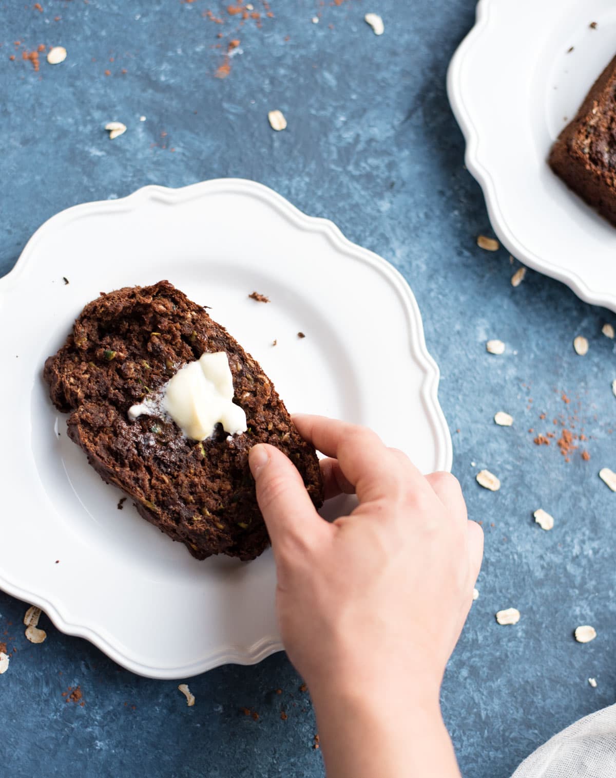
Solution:
M 344 251 L 357 261 L 363 261 L 371 265 L 374 269 L 385 275 L 395 291 L 398 292 L 398 299 L 405 308 L 406 320 L 409 328 L 409 351 L 410 356 L 416 360 L 420 369 L 423 371 L 423 380 L 421 386 L 421 399 L 426 412 L 430 418 L 430 426 L 433 429 L 435 450 L 439 469 L 451 470 L 453 461 L 453 446 L 451 442 L 451 433 L 447 426 L 444 412 L 438 401 L 438 384 L 440 372 L 437 363 L 426 347 L 426 341 L 423 331 L 423 321 L 419 312 L 415 296 L 398 270 L 378 254 L 369 251 L 358 244 L 353 244 L 348 240 L 341 230 L 329 219 L 317 216 L 308 216 L 292 205 L 286 198 L 279 195 L 270 187 L 260 184 L 257 181 L 245 178 L 215 178 L 189 184 L 185 187 L 164 187 L 158 184 L 148 184 L 134 191 L 131 195 L 124 198 L 113 200 L 97 200 L 86 202 L 79 205 L 73 205 L 68 209 L 51 216 L 47 219 L 23 248 L 16 265 L 12 270 L 0 279 L 0 298 L 9 293 L 19 282 L 19 277 L 23 274 L 26 265 L 32 261 L 32 256 L 37 244 L 52 230 L 63 226 L 72 219 L 79 219 L 85 215 L 96 214 L 97 212 L 110 212 L 120 210 L 123 212 L 137 209 L 140 205 L 151 199 L 158 202 L 164 202 L 166 205 L 178 205 L 187 202 L 193 198 L 199 198 L 204 195 L 214 193 L 241 192 L 257 200 L 262 200 L 273 206 L 282 216 L 287 218 L 298 230 L 318 231 L 322 233 L 333 247 L 339 251 Z M 36 587 L 35 587 L 36 588 Z M 190 678 L 207 670 L 219 667 L 222 664 L 242 664 L 250 665 L 262 661 L 279 650 L 283 650 L 283 644 L 278 636 L 264 636 L 252 643 L 250 646 L 229 645 L 221 649 L 213 650 L 211 654 L 200 657 L 198 661 L 193 661 L 182 666 L 169 665 L 165 667 L 154 667 L 137 657 L 131 655 L 131 650 L 123 643 L 113 642 L 106 636 L 106 630 L 103 626 L 96 623 L 96 618 L 90 622 L 76 624 L 71 622 L 63 615 L 64 604 L 58 601 L 61 595 L 43 594 L 40 591 L 28 591 L 25 587 L 12 583 L 5 578 L 0 571 L 0 589 L 32 605 L 41 608 L 49 617 L 54 626 L 61 632 L 68 635 L 78 636 L 89 640 L 99 650 L 110 657 L 121 667 L 142 675 L 147 678 L 158 678 L 161 680 L 171 680 L 179 678 Z

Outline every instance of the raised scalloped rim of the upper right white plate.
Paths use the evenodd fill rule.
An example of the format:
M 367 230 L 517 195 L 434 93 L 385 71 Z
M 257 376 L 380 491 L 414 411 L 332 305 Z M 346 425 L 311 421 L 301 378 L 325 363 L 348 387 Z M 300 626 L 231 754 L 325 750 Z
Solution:
M 468 109 L 465 101 L 464 89 L 461 89 L 461 72 L 466 58 L 475 50 L 475 45 L 479 44 L 488 30 L 494 4 L 495 0 L 479 0 L 475 9 L 475 24 L 459 44 L 447 68 L 447 98 L 465 138 L 465 164 L 482 188 L 492 229 L 510 254 L 529 268 L 566 284 L 585 303 L 616 312 L 616 291 L 609 293 L 606 289 L 591 289 L 578 273 L 541 258 L 513 232 L 500 208 L 496 182 L 490 171 L 479 161 L 479 131 L 473 122 L 472 111 Z

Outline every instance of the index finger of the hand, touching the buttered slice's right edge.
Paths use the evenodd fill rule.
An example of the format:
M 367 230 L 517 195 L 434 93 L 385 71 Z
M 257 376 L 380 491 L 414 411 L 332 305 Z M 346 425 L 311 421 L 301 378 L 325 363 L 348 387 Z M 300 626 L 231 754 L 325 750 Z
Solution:
M 361 502 L 395 497 L 409 486 L 426 489 L 423 476 L 410 461 L 403 468 L 399 458 L 370 429 L 325 416 L 296 415 L 293 421 L 305 440 L 339 461 Z

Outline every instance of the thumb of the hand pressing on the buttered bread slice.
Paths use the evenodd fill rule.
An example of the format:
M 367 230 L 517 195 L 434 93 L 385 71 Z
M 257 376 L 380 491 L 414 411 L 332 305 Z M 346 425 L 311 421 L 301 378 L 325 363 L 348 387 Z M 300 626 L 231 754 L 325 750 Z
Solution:
M 291 460 L 274 446 L 259 443 L 249 453 L 259 503 L 274 552 L 284 545 L 305 545 L 327 526 L 315 510 Z

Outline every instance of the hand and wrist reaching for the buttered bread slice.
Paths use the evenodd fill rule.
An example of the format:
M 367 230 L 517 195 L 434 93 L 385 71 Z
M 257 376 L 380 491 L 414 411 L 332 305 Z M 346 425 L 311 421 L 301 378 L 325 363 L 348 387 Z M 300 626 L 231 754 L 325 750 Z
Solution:
M 328 775 L 459 776 L 438 697 L 471 607 L 482 529 L 449 473 L 424 478 L 369 429 L 294 422 L 329 457 L 325 498 L 359 500 L 328 524 L 280 450 L 250 452 L 280 633 L 310 687 Z

